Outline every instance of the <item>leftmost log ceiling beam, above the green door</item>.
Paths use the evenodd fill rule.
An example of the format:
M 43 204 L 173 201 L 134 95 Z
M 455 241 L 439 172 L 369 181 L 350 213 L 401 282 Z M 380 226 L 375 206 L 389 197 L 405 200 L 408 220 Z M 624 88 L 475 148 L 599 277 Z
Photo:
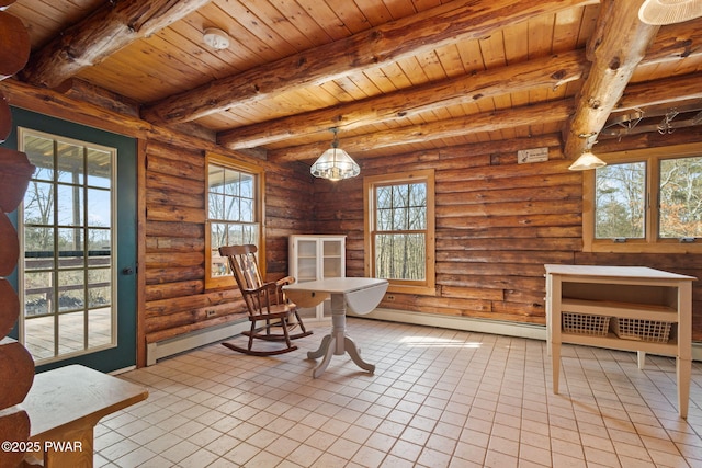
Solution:
M 32 54 L 21 78 L 56 88 L 83 68 L 100 64 L 134 41 L 148 37 L 212 0 L 104 2 L 80 23 Z

